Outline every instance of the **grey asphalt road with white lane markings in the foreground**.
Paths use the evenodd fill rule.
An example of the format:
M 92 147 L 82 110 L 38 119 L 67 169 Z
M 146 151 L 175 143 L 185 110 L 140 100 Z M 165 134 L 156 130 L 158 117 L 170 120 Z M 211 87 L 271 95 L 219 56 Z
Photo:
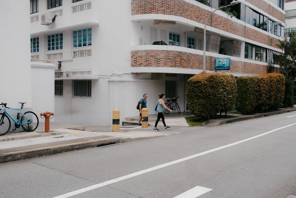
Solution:
M 182 133 L 180 128 L 172 127 L 170 136 L 0 164 L 0 197 L 286 198 L 296 193 L 296 112 Z

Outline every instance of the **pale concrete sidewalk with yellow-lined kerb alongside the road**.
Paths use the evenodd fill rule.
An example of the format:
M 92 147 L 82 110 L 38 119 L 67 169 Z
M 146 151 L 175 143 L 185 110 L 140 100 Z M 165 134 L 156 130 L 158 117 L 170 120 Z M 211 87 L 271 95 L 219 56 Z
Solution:
M 233 115 L 233 117 L 207 120 L 203 125 L 210 127 L 295 110 L 296 108 L 279 109 L 252 115 L 227 113 L 227 115 Z M 0 163 L 124 141 L 168 136 L 177 133 L 174 132 L 176 128 L 178 128 L 178 133 L 186 131 L 188 124 L 185 117 L 191 116 L 193 115 L 190 112 L 165 114 L 166 124 L 176 127 L 172 127 L 170 130 L 159 127 L 160 131 L 158 132 L 153 131 L 157 115 L 148 116 L 148 123 L 151 124 L 148 128 L 136 125 L 139 119 L 138 116 L 126 118 L 122 123 L 129 125 L 121 125 L 119 132 L 112 132 L 112 126 L 81 126 L 51 122 L 51 133 L 44 133 L 44 123 L 39 123 L 36 131 L 23 132 L 21 129 L 17 129 L 16 132 L 9 132 L 4 136 L 0 136 Z M 160 123 L 161 125 L 162 123 Z

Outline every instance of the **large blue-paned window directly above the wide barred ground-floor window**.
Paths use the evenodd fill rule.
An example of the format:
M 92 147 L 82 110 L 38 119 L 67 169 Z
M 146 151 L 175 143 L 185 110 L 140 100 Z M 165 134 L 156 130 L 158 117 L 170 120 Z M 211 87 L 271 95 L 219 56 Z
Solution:
M 91 46 L 91 28 L 73 31 L 73 47 Z

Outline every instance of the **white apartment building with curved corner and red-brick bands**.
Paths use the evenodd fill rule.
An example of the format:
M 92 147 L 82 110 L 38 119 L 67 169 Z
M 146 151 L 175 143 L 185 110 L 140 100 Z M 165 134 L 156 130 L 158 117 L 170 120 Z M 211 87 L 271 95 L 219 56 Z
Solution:
M 149 115 L 161 92 L 179 96 L 181 111 L 188 111 L 186 81 L 203 71 L 205 20 L 225 1 L 172 2 L 30 0 L 31 58 L 59 66 L 55 121 L 112 125 L 114 109 L 120 120 L 139 115 L 144 93 Z M 275 44 L 283 38 L 283 0 L 240 2 L 228 11 L 237 17 L 218 10 L 207 23 L 207 72 L 223 72 L 214 69 L 215 58 L 230 58 L 226 72 L 234 76 L 267 73 L 280 52 Z

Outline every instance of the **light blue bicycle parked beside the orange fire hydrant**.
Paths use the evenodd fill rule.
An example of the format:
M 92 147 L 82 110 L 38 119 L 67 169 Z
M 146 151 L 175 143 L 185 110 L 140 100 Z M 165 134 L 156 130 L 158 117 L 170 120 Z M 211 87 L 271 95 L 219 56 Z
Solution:
M 39 120 L 38 120 L 37 115 L 31 111 L 27 111 L 27 112 L 23 113 L 22 108 L 23 108 L 24 104 L 26 104 L 26 102 L 19 102 L 19 103 L 22 104 L 20 109 L 6 107 L 7 103 L 2 102 L 0 104 L 0 105 L 2 105 L 2 108 L 4 106 L 3 113 L 0 113 L 0 136 L 5 135 L 10 130 L 11 122 L 10 122 L 9 117 L 15 122 L 15 129 L 12 129 L 13 131 L 15 131 L 17 128 L 20 128 L 20 126 L 22 126 L 22 128 L 27 132 L 35 131 L 36 128 L 38 127 Z M 19 113 L 17 113 L 17 120 L 15 120 L 6 111 L 6 108 L 20 111 Z M 0 108 L 0 110 L 1 110 L 1 108 Z

